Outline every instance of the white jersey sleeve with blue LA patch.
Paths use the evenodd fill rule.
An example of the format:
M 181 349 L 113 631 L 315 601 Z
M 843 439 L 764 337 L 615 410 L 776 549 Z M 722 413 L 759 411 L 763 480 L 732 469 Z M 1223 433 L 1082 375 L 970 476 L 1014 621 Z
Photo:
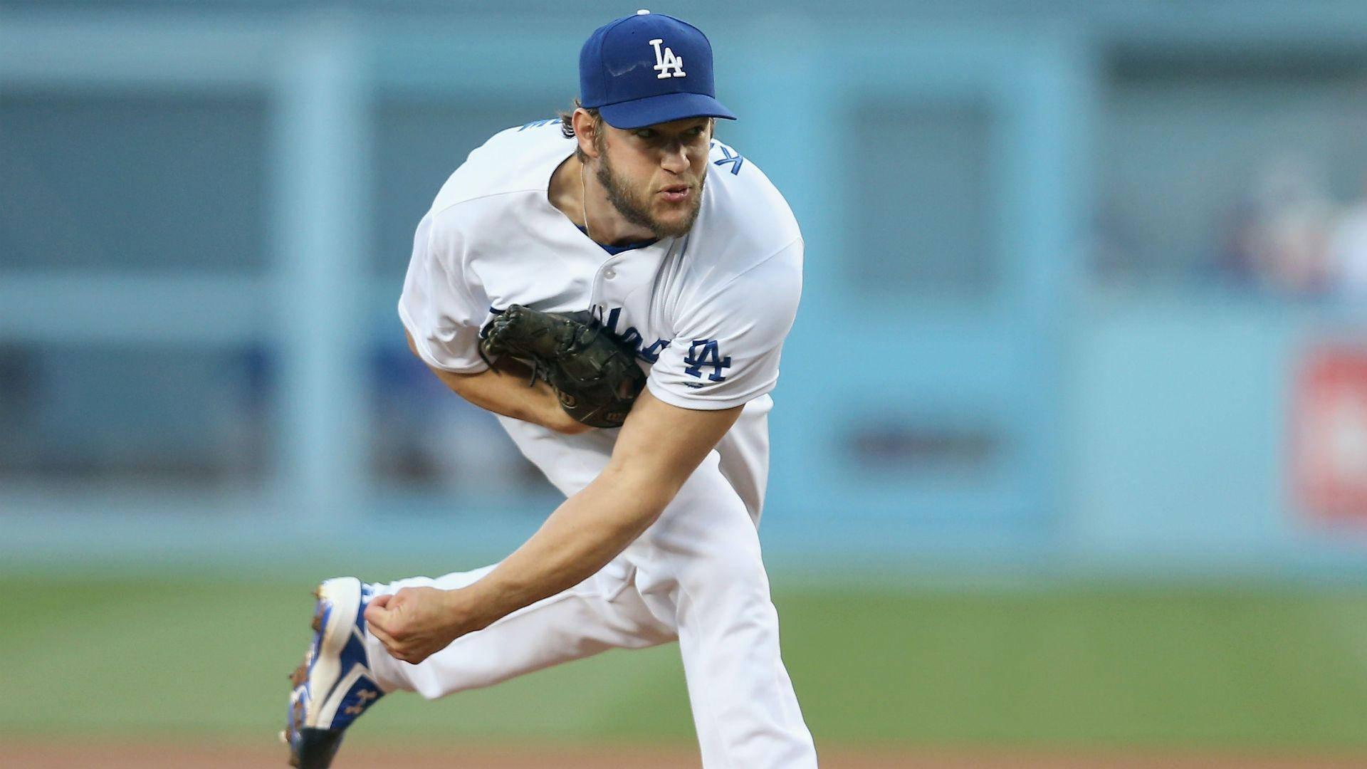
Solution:
M 801 265 L 797 239 L 689 302 L 674 339 L 651 367 L 651 394 L 679 408 L 716 410 L 772 390 L 802 293 Z

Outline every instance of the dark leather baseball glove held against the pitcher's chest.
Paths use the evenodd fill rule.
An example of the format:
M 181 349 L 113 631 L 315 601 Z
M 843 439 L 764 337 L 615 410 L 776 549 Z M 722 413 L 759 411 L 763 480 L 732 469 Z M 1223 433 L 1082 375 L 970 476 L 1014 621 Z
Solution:
M 514 304 L 491 320 L 481 337 L 485 361 L 510 356 L 526 363 L 530 384 L 545 380 L 560 408 L 591 427 L 622 427 L 645 386 L 636 352 L 588 312 L 539 312 Z

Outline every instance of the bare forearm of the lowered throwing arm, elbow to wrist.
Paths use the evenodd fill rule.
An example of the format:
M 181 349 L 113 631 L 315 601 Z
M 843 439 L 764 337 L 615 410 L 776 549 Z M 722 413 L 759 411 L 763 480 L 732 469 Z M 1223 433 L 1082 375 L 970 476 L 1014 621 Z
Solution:
M 492 572 L 459 591 L 474 627 L 484 628 L 595 575 L 660 516 L 675 491 L 612 467 L 604 469 Z

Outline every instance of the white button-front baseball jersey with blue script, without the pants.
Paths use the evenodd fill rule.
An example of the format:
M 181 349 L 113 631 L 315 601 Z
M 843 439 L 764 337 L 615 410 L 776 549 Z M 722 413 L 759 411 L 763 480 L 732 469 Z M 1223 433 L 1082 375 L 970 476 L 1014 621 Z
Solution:
M 675 406 L 750 404 L 761 416 L 797 311 L 802 238 L 787 203 L 753 163 L 712 142 L 692 231 L 610 255 L 551 205 L 552 172 L 576 148 L 559 120 L 509 129 L 470 153 L 418 224 L 399 317 L 422 360 L 472 374 L 487 364 L 480 328 L 503 308 L 593 311 L 649 368 L 651 393 Z M 565 447 L 611 453 L 592 439 L 503 420 L 562 491 L 578 487 Z M 767 430 L 742 419 L 733 431 Z M 735 435 L 718 450 L 752 517 L 767 475 L 767 439 Z M 559 446 L 547 446 L 545 443 Z M 766 456 L 745 456 L 764 446 Z

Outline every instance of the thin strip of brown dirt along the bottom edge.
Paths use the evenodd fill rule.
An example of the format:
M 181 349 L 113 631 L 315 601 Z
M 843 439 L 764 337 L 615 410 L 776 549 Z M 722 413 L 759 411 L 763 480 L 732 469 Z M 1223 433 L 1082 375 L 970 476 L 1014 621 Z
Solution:
M 15 769 L 253 769 L 286 766 L 286 753 L 267 748 L 186 746 L 42 746 L 0 748 L 0 765 Z M 1267 758 L 1217 754 L 1061 755 L 999 751 L 860 753 L 823 751 L 823 769 L 1348 769 L 1357 758 Z M 335 769 L 697 769 L 694 753 L 671 746 L 664 751 L 632 748 L 480 747 L 447 751 L 343 750 Z

